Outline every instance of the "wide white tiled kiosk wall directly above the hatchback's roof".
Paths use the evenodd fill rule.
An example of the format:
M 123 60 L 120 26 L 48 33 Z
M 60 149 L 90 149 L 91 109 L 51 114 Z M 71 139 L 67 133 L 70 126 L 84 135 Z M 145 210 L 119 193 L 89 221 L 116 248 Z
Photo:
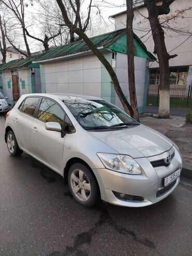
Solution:
M 101 62 L 95 56 L 45 63 L 46 92 L 101 96 Z

